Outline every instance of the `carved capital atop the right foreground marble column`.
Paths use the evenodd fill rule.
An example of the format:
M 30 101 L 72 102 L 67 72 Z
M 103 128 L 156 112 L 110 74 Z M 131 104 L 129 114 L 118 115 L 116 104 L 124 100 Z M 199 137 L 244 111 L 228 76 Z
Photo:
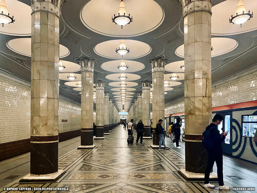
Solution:
M 183 17 L 195 11 L 207 11 L 210 14 L 212 8 L 212 0 L 179 0 L 183 7 Z

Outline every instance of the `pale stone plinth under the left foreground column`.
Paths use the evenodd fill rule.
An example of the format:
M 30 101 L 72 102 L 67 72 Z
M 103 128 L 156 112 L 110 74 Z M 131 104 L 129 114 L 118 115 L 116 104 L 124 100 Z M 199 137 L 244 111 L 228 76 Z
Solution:
M 56 173 L 52 174 L 42 174 L 42 175 L 34 175 L 34 174 L 27 174 L 25 177 L 23 177 L 20 182 L 55 182 L 60 177 L 63 176 L 63 174 L 66 173 L 64 170 L 58 170 Z

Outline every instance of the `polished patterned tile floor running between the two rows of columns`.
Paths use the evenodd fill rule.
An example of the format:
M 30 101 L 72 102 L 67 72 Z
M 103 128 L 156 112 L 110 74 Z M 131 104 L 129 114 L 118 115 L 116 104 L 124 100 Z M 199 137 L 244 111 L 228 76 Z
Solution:
M 69 187 L 67 192 L 219 192 L 217 182 L 212 182 L 215 188 L 205 189 L 203 182 L 189 182 L 178 174 L 177 170 L 185 167 L 185 151 L 151 149 L 151 139 L 143 145 L 127 145 L 126 138 L 127 132 L 118 127 L 104 140 L 95 140 L 96 148 L 74 149 L 60 156 L 59 168 L 66 173 L 57 182 L 19 183 L 18 179 L 5 186 Z M 238 187 L 236 180 L 225 179 L 225 183 Z

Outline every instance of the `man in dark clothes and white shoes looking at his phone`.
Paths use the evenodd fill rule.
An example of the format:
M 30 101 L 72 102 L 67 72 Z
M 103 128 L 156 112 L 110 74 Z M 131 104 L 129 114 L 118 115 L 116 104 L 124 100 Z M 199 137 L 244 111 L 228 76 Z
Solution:
M 223 116 L 216 114 L 213 117 L 212 123 L 206 127 L 203 133 L 202 143 L 208 152 L 208 164 L 205 170 L 205 188 L 213 188 L 214 185 L 209 183 L 210 171 L 213 168 L 214 162 L 217 165 L 218 185 L 220 190 L 229 190 L 229 187 L 223 182 L 223 151 L 222 143 L 226 138 L 227 132 L 219 134 L 218 125 L 223 121 Z

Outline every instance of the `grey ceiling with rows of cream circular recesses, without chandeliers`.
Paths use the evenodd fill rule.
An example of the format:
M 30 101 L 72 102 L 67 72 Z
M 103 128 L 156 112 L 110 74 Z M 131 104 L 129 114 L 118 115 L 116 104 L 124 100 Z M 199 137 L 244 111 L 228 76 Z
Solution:
M 141 91 L 141 81 L 152 80 L 150 60 L 167 58 L 165 102 L 183 97 L 183 21 L 182 7 L 177 0 L 124 0 L 133 22 L 121 29 L 112 22 L 120 0 L 68 0 L 60 18 L 60 58 L 65 68 L 60 73 L 60 95 L 80 102 L 81 81 L 78 59 L 96 60 L 94 80 L 105 82 L 105 91 L 121 110 L 121 91 L 117 67 L 124 60 L 126 107 Z M 257 13 L 257 2 L 244 0 L 247 10 Z M 30 0 L 6 0 L 14 15 L 14 24 L 0 26 L 0 70 L 30 81 L 31 9 Z M 243 71 L 256 71 L 257 19 L 242 27 L 230 24 L 237 1 L 213 1 L 212 8 L 212 82 L 238 76 Z M 124 40 L 130 52 L 121 57 L 115 49 Z M 67 76 L 77 77 L 70 81 Z M 176 73 L 175 81 L 170 76 Z

